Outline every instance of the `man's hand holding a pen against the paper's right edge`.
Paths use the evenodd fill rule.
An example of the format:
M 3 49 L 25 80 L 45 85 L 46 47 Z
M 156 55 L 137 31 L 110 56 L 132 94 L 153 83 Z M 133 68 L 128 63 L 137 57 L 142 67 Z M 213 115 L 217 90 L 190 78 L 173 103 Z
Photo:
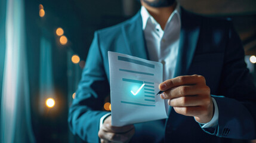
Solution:
M 213 116 L 213 103 L 205 77 L 199 75 L 179 76 L 165 80 L 159 85 L 160 96 L 168 99 L 174 110 L 185 116 L 193 116 L 199 123 L 208 123 Z

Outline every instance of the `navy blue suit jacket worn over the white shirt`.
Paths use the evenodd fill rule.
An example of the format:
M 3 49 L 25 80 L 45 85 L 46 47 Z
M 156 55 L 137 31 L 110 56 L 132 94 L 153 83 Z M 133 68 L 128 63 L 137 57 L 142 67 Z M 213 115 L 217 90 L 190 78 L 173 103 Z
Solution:
M 72 132 L 98 142 L 104 98 L 109 95 L 107 51 L 149 59 L 141 15 L 95 32 L 76 98 L 69 110 Z M 202 129 L 193 117 L 171 110 L 166 123 L 135 125 L 131 142 L 227 142 L 256 138 L 256 91 L 244 62 L 239 36 L 228 20 L 202 17 L 181 9 L 181 35 L 175 76 L 200 74 L 218 104 L 216 129 Z

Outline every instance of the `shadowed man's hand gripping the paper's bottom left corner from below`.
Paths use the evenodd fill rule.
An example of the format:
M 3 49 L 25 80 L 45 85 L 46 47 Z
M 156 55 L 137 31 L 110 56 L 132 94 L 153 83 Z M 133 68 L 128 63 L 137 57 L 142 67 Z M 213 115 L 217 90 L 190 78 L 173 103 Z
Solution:
M 103 126 L 98 131 L 98 137 L 101 143 L 103 142 L 129 142 L 134 135 L 134 125 L 127 125 L 122 127 L 112 126 L 111 116 L 107 117 Z

